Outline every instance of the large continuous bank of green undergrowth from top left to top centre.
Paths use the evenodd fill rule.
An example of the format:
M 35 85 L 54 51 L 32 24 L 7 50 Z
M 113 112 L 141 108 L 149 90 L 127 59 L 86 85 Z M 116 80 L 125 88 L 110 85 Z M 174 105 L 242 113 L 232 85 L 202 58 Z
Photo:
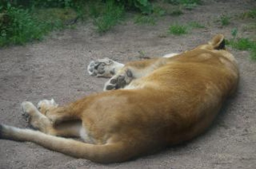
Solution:
M 70 27 L 78 19 L 91 17 L 99 33 L 111 29 L 123 18 L 125 10 L 142 14 L 164 15 L 161 8 L 153 8 L 149 0 L 1 0 L 0 46 L 24 44 L 40 40 L 48 32 Z M 138 22 L 150 22 L 149 18 Z

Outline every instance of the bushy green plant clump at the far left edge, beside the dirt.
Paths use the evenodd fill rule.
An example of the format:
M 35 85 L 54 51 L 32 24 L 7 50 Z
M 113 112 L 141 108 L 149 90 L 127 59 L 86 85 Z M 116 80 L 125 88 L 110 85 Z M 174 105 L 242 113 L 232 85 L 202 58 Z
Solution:
M 0 21 L 0 46 L 40 40 L 57 27 L 62 27 L 60 20 L 42 21 L 32 16 L 28 10 L 11 7 L 9 4 Z

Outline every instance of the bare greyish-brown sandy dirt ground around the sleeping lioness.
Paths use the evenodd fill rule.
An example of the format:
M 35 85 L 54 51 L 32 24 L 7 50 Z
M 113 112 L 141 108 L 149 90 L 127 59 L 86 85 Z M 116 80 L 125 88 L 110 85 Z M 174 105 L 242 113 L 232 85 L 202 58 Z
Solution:
M 57 103 L 101 92 L 106 78 L 94 78 L 86 72 L 90 60 L 111 58 L 118 62 L 139 60 L 182 52 L 207 42 L 214 34 L 231 38 L 231 29 L 255 20 L 231 19 L 221 27 L 216 19 L 226 13 L 236 16 L 256 7 L 255 0 L 210 0 L 178 17 L 164 16 L 157 25 L 137 25 L 132 19 L 100 36 L 90 23 L 77 29 L 53 33 L 43 42 L 0 49 L 0 122 L 27 127 L 20 102 L 37 103 L 54 98 Z M 166 34 L 171 23 L 191 20 L 206 26 L 189 34 Z M 254 37 L 256 30 L 239 31 Z M 163 37 L 162 34 L 166 34 Z M 256 62 L 248 51 L 231 49 L 240 66 L 240 87 L 227 101 L 210 129 L 186 144 L 169 147 L 159 153 L 132 161 L 101 165 L 47 150 L 31 142 L 0 140 L 0 169 L 255 169 L 256 167 Z

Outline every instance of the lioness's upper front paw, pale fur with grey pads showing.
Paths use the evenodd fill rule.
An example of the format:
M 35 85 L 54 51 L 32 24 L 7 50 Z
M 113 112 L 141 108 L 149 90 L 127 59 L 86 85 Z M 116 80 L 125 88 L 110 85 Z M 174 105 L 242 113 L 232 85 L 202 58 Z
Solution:
M 105 58 L 91 61 L 87 71 L 91 76 L 110 78 L 122 67 L 124 67 L 124 64 Z

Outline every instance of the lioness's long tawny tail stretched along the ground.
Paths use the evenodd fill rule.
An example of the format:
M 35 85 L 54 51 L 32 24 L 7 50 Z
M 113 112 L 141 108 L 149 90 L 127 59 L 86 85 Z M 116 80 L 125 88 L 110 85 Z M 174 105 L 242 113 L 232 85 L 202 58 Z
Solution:
M 47 135 L 40 131 L 7 125 L 0 125 L 0 139 L 30 141 L 69 156 L 101 163 L 121 162 L 132 157 L 129 148 L 123 142 L 92 145 L 73 139 Z

